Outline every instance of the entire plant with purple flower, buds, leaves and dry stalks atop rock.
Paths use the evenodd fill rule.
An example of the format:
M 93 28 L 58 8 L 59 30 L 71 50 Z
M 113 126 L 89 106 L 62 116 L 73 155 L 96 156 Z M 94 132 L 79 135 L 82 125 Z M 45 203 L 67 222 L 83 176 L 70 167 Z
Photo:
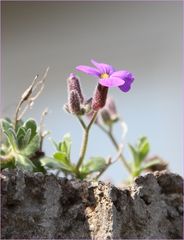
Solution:
M 129 145 L 133 161 L 127 161 L 122 153 L 122 144 L 118 144 L 113 135 L 114 124 L 120 122 L 124 132 L 126 125 L 119 117 L 114 100 L 108 96 L 108 91 L 111 87 L 118 87 L 122 92 L 128 92 L 134 81 L 133 74 L 125 70 L 116 71 L 112 66 L 94 60 L 92 60 L 92 64 L 94 67 L 83 65 L 76 67 L 78 71 L 97 78 L 97 86 L 92 97 L 85 99 L 79 78 L 75 74 L 70 74 L 67 79 L 68 101 L 64 105 L 64 109 L 79 121 L 83 131 L 77 162 L 73 162 L 71 159 L 72 139 L 70 134 L 65 134 L 59 143 L 53 141 L 56 149 L 53 156 L 45 156 L 42 143 L 48 132 L 43 130 L 43 119 L 47 111 L 42 113 L 40 125 L 34 119 L 23 121 L 25 112 L 32 107 L 44 88 L 47 69 L 43 78 L 38 80 L 38 76 L 36 76 L 22 94 L 14 120 L 1 119 L 1 130 L 5 137 L 0 149 L 1 169 L 18 168 L 44 173 L 49 170 L 57 170 L 57 174 L 62 172 L 67 177 L 98 179 L 110 165 L 120 159 L 133 178 L 160 163 L 158 158 L 146 162 L 149 153 L 149 143 L 146 137 L 140 138 L 135 146 Z M 86 159 L 88 140 L 94 123 L 107 134 L 116 148 L 117 156 L 114 159 L 101 156 Z

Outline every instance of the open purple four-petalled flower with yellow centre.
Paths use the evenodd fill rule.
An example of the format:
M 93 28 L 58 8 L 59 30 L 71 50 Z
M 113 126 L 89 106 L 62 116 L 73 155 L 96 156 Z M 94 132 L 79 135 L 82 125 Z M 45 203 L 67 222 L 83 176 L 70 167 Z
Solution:
M 91 60 L 91 63 L 96 67 L 77 66 L 76 69 L 88 75 L 99 78 L 99 84 L 105 87 L 119 87 L 121 91 L 128 92 L 131 84 L 134 81 L 132 73 L 121 70 L 116 71 L 111 65 L 105 63 L 97 63 Z

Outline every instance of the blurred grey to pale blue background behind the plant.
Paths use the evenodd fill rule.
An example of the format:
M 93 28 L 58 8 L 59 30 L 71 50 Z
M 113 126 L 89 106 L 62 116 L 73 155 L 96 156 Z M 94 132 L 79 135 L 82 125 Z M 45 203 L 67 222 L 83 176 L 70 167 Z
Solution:
M 182 174 L 182 1 L 147 2 L 1 2 L 1 115 L 12 117 L 22 92 L 34 76 L 50 66 L 44 92 L 25 117 L 40 120 L 49 108 L 46 128 L 56 141 L 70 132 L 72 159 L 77 160 L 81 129 L 63 111 L 66 78 L 90 59 L 134 73 L 132 90 L 110 89 L 117 109 L 128 125 L 125 144 L 146 135 L 150 155 L 169 162 Z M 87 97 L 96 80 L 78 73 Z M 115 135 L 121 140 L 120 126 Z M 44 148 L 54 148 L 46 139 Z M 114 156 L 109 139 L 94 126 L 87 157 Z M 130 155 L 125 147 L 125 155 Z M 121 162 L 102 179 L 119 183 L 127 177 Z

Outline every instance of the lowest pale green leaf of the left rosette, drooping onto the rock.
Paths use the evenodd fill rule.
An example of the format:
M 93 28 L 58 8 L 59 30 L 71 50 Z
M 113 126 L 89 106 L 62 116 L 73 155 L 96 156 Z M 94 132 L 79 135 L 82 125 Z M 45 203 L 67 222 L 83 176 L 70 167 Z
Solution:
M 18 169 L 26 171 L 33 171 L 33 169 L 35 168 L 32 161 L 26 156 L 23 156 L 21 154 L 15 155 L 15 165 Z

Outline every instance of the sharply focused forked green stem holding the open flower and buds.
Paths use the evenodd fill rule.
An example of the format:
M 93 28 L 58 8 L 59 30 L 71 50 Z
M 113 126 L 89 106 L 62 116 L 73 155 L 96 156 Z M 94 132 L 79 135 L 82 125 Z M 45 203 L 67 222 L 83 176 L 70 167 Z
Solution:
M 83 124 L 83 121 L 81 121 L 81 118 L 79 118 L 79 121 L 83 127 L 83 139 L 82 139 L 82 144 L 81 144 L 81 149 L 80 149 L 80 154 L 79 154 L 79 160 L 77 162 L 77 166 L 76 166 L 76 171 L 79 172 L 79 168 L 83 163 L 85 154 L 86 154 L 86 150 L 87 150 L 87 145 L 88 145 L 88 138 L 89 138 L 89 130 L 91 128 L 91 126 L 93 125 L 93 123 L 96 120 L 98 112 L 95 112 L 90 123 L 88 124 L 88 126 L 86 126 L 85 124 Z

